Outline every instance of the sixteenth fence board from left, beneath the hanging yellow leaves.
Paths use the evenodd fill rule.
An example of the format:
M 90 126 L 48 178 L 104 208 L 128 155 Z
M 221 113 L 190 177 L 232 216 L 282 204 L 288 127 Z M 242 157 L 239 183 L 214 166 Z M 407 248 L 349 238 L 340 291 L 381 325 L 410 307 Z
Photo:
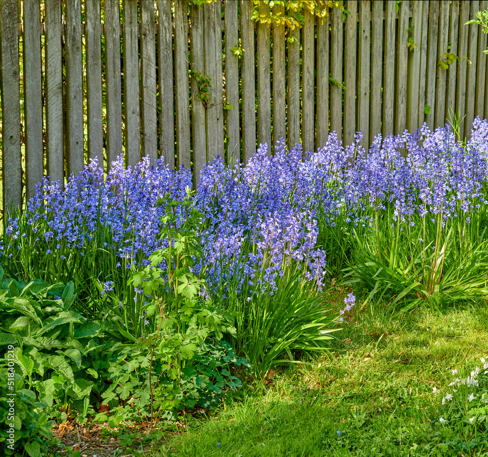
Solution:
M 273 7 L 273 13 L 285 14 L 285 7 Z M 273 146 L 286 139 L 286 86 L 285 86 L 285 25 L 273 25 Z M 318 40 L 318 38 L 317 38 Z M 319 88 L 317 87 L 317 97 Z M 274 151 L 274 148 L 273 148 Z

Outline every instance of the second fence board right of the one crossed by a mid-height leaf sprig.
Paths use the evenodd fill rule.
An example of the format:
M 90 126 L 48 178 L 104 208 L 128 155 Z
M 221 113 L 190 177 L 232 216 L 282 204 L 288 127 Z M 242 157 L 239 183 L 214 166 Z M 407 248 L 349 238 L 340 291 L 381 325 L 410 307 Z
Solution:
M 369 147 L 369 78 L 370 78 L 370 2 L 361 0 L 359 2 L 359 50 L 361 56 L 358 68 L 358 127 L 363 133 L 362 144 L 366 151 Z

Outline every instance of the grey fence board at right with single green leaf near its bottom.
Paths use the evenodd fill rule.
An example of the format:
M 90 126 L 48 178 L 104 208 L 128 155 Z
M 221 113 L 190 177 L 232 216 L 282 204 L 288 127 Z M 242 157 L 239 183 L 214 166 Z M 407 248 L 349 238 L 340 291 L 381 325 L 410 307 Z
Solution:
M 426 115 L 427 126 L 434 128 L 435 113 L 435 79 L 437 74 L 437 42 L 439 24 L 439 1 L 429 1 L 428 38 L 427 38 L 427 76 L 426 76 L 426 105 L 430 113 Z

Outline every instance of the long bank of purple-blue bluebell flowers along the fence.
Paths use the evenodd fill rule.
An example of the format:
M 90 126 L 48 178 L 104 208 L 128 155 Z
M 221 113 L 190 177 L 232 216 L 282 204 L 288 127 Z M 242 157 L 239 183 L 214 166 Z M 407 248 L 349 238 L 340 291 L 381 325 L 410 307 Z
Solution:
M 412 134 L 376 137 L 367 154 L 360 133 L 346 146 L 332 133 L 316 153 L 298 144 L 286 150 L 282 140 L 274 155 L 261 146 L 246 166 L 217 158 L 203 167 L 192 196 L 204 219 L 204 256 L 195 272 L 205 269 L 210 285 L 232 281 L 239 288 L 272 285 L 286 266 L 298 265 L 320 288 L 326 260 L 318 241 L 339 220 L 347 233 L 385 211 L 392 224 L 414 225 L 418 217 L 440 217 L 444 224 L 461 216 L 469 223 L 470 212 L 487 203 L 487 137 L 487 121 L 477 118 L 466 145 L 447 126 L 430 132 L 424 125 Z M 41 253 L 41 262 L 59 255 L 68 265 L 74 252 L 84 256 L 96 242 L 114 253 L 114 267 L 147 265 L 164 243 L 165 209 L 156 202 L 167 192 L 183 201 L 187 186 L 189 170 L 170 170 L 162 159 L 151 166 L 148 158 L 126 169 L 119 157 L 106 177 L 92 160 L 64 190 L 44 179 L 20 219 L 8 220 L 2 264 L 15 265 L 29 249 Z M 108 273 L 101 277 L 103 293 L 113 287 L 108 279 Z

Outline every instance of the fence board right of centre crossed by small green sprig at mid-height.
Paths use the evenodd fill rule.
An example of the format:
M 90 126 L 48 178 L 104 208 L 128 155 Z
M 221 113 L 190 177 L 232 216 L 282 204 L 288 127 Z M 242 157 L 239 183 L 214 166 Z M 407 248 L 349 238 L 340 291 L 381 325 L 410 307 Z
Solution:
M 332 35 L 330 38 L 330 76 L 339 83 L 343 83 L 342 53 L 343 53 L 343 20 L 339 8 L 332 9 Z M 330 130 L 342 139 L 342 87 L 332 83 L 330 85 Z

